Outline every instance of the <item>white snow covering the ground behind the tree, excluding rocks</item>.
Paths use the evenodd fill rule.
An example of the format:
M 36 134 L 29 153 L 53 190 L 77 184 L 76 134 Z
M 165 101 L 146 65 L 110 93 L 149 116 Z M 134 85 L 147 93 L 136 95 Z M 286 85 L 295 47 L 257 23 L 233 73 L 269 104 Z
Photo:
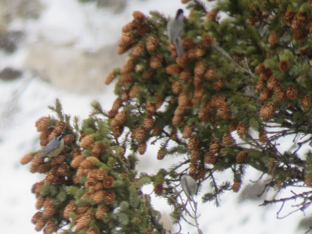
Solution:
M 111 108 L 115 100 L 114 84 L 102 92 L 82 95 L 66 91 L 66 88 L 56 89 L 42 81 L 41 77 L 34 75 L 26 66 L 27 45 L 45 38 L 51 44 L 68 43 L 73 51 L 81 49 L 96 51 L 103 46 L 117 43 L 121 36 L 121 27 L 132 20 L 134 10 L 145 14 L 150 10 L 157 10 L 172 16 L 178 8 L 185 9 L 179 0 L 129 0 L 120 14 L 112 13 L 110 8 L 97 8 L 93 3 L 80 4 L 75 0 L 41 0 L 41 2 L 44 10 L 39 19 L 26 21 L 16 19 L 9 25 L 11 29 L 23 29 L 26 33 L 25 40 L 17 51 L 12 55 L 0 53 L 0 70 L 12 66 L 24 71 L 21 79 L 10 82 L 0 80 L 0 233 L 4 234 L 36 233 L 30 222 L 30 218 L 36 212 L 35 197 L 30 189 L 33 183 L 43 177 L 29 173 L 29 165 L 22 166 L 19 160 L 27 152 L 39 148 L 39 134 L 36 132 L 34 122 L 41 116 L 52 114 L 47 105 L 53 105 L 55 98 L 59 98 L 65 113 L 79 115 L 80 119 L 84 119 L 90 113 L 92 100 L 99 101 L 106 110 Z M 105 74 L 99 82 L 103 82 L 104 77 Z M 281 151 L 289 148 L 291 140 L 292 138 L 283 139 Z M 151 145 L 148 151 L 140 156 L 138 167 L 140 171 L 156 173 L 159 168 L 165 168 L 176 160 L 165 158 L 158 161 L 155 155 L 157 150 L 157 145 Z M 252 168 L 247 169 L 244 184 L 251 184 L 249 180 L 257 180 L 259 176 L 260 174 Z M 223 173 L 218 176 L 218 182 L 225 179 L 231 180 L 231 175 Z M 243 185 L 241 191 L 244 187 Z M 306 216 L 302 212 L 296 212 L 285 219 L 277 220 L 276 212 L 280 204 L 258 207 L 264 199 L 272 197 L 273 194 L 269 192 L 260 199 L 255 199 L 255 194 L 260 193 L 262 188 L 263 180 L 249 190 L 252 195 L 229 191 L 221 197 L 219 208 L 212 203 L 202 204 L 200 197 L 197 197 L 201 214 L 199 223 L 203 233 L 304 233 L 306 230 L 298 230 L 298 223 L 304 217 L 310 217 L 311 210 L 306 211 Z M 144 192 L 150 193 L 152 189 L 151 186 L 147 186 Z M 202 191 L 210 191 L 208 182 L 204 183 Z M 288 191 L 281 195 L 291 194 Z M 152 201 L 154 207 L 162 212 L 163 222 L 170 226 L 168 216 L 170 208 L 166 202 L 155 197 Z M 281 216 L 291 210 L 292 208 L 286 204 Z M 177 231 L 177 227 L 174 226 L 173 232 Z M 183 223 L 182 233 L 188 232 L 197 233 L 194 227 Z

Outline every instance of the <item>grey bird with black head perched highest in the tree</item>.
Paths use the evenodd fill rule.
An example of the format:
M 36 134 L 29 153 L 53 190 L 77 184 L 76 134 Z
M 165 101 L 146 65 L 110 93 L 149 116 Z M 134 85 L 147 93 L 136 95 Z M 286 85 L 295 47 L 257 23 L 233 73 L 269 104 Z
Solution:
M 184 54 L 182 48 L 183 41 L 180 38 L 184 30 L 183 18 L 183 10 L 178 9 L 176 16 L 170 19 L 167 24 L 167 36 L 170 43 L 175 44 L 178 57 Z

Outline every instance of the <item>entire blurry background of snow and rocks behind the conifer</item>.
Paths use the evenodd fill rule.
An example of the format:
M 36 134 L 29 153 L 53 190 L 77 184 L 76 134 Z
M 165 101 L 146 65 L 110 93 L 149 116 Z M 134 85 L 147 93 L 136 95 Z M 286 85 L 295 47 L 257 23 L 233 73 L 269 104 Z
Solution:
M 213 2 L 205 4 L 210 9 Z M 114 84 L 106 86 L 103 81 L 107 72 L 126 60 L 126 55 L 116 52 L 121 27 L 132 20 L 134 10 L 145 14 L 157 10 L 173 16 L 178 8 L 186 10 L 179 0 L 0 0 L 1 233 L 36 233 L 30 223 L 36 212 L 30 189 L 42 178 L 29 173 L 29 165 L 19 164 L 24 154 L 39 149 L 35 120 L 52 114 L 47 105 L 53 105 L 55 98 L 60 98 L 65 113 L 79 115 L 80 119 L 87 118 L 92 100 L 110 110 L 115 100 Z M 281 149 L 288 148 L 291 140 L 285 139 Z M 157 150 L 158 145 L 150 145 L 140 156 L 140 171 L 156 173 L 178 160 L 158 161 Z M 304 233 L 312 226 L 311 210 L 305 217 L 296 212 L 277 220 L 280 204 L 258 207 L 273 195 L 270 191 L 261 198 L 256 196 L 263 190 L 266 178 L 257 183 L 249 180 L 259 177 L 249 168 L 240 193 L 225 193 L 219 208 L 202 204 L 197 197 L 202 231 L 290 234 Z M 231 180 L 231 175 L 218 177 L 219 182 L 225 179 Z M 209 189 L 207 181 L 202 193 Z M 145 193 L 152 190 L 151 186 L 144 188 Z M 166 228 L 177 232 L 177 227 L 171 227 L 166 202 L 153 197 L 153 204 L 162 212 Z M 292 210 L 291 204 L 287 205 L 281 212 L 285 215 Z M 196 229 L 184 223 L 182 233 L 187 232 L 196 233 Z

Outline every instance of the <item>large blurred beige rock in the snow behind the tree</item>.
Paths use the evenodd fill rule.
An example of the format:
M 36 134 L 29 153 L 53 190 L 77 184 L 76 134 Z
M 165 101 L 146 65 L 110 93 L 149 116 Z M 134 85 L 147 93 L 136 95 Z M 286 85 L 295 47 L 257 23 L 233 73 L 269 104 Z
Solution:
M 57 88 L 83 94 L 108 88 L 104 84 L 106 74 L 124 65 L 127 57 L 117 54 L 117 45 L 93 52 L 43 41 L 27 48 L 26 61 L 31 70 Z

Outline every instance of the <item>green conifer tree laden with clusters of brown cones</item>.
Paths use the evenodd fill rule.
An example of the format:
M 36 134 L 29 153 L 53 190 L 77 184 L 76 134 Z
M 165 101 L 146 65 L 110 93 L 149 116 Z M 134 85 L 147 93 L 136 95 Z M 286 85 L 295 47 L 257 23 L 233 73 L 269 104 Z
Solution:
M 129 58 L 105 78 L 107 85 L 116 80 L 111 110 L 93 102 L 80 125 L 56 100 L 56 115 L 37 120 L 41 146 L 60 133 L 66 146 L 51 160 L 37 158 L 40 149 L 21 159 L 31 173 L 46 174 L 32 187 L 35 230 L 169 233 L 141 188 L 153 184 L 178 224 L 188 212 L 176 188 L 185 166 L 199 188 L 212 188 L 198 193 L 202 202 L 219 206 L 252 167 L 269 176 L 264 190 L 306 188 L 262 205 L 296 199 L 303 211 L 311 204 L 312 153 L 298 152 L 312 144 L 312 1 L 225 0 L 210 10 L 202 1 L 182 2 L 190 10 L 183 56 L 168 42 L 167 17 L 135 11 L 118 42 L 118 54 Z M 281 151 L 276 142 L 287 135 L 294 147 Z M 139 155 L 155 142 L 154 157 L 175 156 L 176 163 L 138 174 Z M 215 173 L 227 170 L 232 177 L 217 183 Z M 196 215 L 194 222 L 202 233 Z

